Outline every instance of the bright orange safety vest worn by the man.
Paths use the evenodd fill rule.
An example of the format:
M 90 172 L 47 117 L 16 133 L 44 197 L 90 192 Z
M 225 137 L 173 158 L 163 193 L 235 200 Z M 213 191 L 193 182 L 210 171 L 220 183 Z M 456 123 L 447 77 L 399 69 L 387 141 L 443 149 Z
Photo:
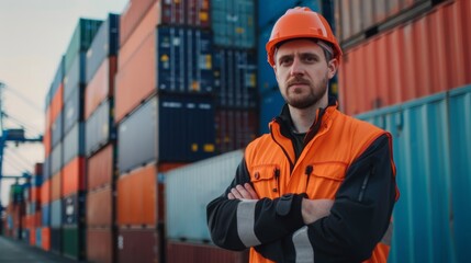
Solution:
M 377 138 L 388 134 L 369 123 L 340 113 L 335 106 L 329 106 L 325 110 L 317 134 L 307 142 L 293 170 L 290 171 L 290 162 L 285 155 L 295 160 L 292 141 L 281 135 L 277 122 L 271 122 L 270 126 L 273 138 L 263 135 L 251 142 L 245 152 L 250 181 L 260 198 L 277 198 L 288 193 L 306 193 L 311 199 L 334 199 L 349 165 Z M 392 160 L 391 162 L 395 174 L 394 163 Z M 314 176 L 309 180 L 309 185 L 305 175 L 307 165 L 313 168 L 311 176 Z M 277 170 L 279 179 L 276 179 Z M 389 250 L 389 244 L 380 242 L 366 262 L 386 262 Z M 257 253 L 254 248 L 250 249 L 249 258 L 251 263 L 272 262 Z

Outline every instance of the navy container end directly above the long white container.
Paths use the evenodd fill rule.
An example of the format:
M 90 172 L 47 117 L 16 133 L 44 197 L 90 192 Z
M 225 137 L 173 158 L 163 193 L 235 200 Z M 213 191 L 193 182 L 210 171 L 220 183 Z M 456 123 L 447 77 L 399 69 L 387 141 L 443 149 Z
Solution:
M 160 96 L 158 160 L 190 162 L 214 156 L 214 113 L 211 98 Z

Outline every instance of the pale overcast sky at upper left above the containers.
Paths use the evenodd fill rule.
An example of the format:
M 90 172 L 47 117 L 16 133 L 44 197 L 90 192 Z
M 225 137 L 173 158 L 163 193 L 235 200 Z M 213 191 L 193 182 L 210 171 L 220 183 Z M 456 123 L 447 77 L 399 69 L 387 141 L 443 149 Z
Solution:
M 0 82 L 7 85 L 2 110 L 10 117 L 4 128 L 23 125 L 29 137 L 44 130 L 47 90 L 79 18 L 104 20 L 122 13 L 128 0 L 0 0 Z M 41 144 L 9 145 L 3 174 L 19 175 L 42 162 Z M 7 205 L 12 180 L 1 182 Z

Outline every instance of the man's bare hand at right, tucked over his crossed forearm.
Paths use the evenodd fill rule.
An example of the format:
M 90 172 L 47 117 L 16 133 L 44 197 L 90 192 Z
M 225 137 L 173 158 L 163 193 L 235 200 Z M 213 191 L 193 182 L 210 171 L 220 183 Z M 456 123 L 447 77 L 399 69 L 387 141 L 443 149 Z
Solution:
M 301 203 L 301 214 L 304 224 L 310 225 L 314 221 L 330 215 L 330 208 L 334 205 L 333 199 L 306 199 Z

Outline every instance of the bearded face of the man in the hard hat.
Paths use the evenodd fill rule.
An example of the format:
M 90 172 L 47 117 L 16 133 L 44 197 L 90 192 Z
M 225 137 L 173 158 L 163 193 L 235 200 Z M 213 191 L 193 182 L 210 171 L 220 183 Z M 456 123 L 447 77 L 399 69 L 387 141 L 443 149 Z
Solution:
M 296 108 L 327 105 L 327 83 L 337 60 L 326 61 L 321 46 L 310 39 L 284 43 L 274 55 L 274 75 L 287 103 Z

